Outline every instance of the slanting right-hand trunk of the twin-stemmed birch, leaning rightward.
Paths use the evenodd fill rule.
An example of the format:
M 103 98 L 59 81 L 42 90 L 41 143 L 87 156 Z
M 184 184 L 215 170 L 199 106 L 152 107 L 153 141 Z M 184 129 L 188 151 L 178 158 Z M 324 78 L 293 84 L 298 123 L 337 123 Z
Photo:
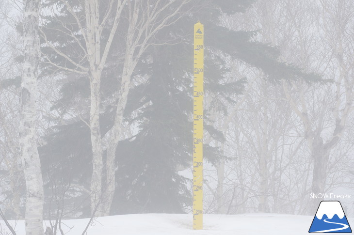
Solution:
M 127 33 L 126 53 L 122 73 L 122 81 L 119 93 L 117 94 L 117 109 L 115 112 L 114 124 L 113 128 L 111 129 L 110 140 L 107 149 L 105 179 L 106 185 L 105 190 L 102 194 L 103 201 L 100 209 L 101 211 L 104 211 L 106 215 L 108 215 L 110 211 L 114 196 L 115 153 L 117 150 L 117 145 L 122 130 L 123 114 L 128 100 L 131 75 L 140 59 L 140 56 L 148 45 L 148 40 L 153 35 L 155 35 L 157 31 L 167 26 L 167 21 L 171 17 L 175 16 L 179 12 L 182 5 L 186 3 L 186 1 L 181 1 L 180 6 L 177 7 L 172 13 L 170 13 L 170 15 L 164 17 L 162 21 L 156 23 L 154 22 L 154 20 L 156 20 L 156 17 L 160 14 L 164 14 L 164 10 L 168 8 L 170 4 L 175 2 L 175 0 L 169 1 L 168 3 L 164 4 L 161 3 L 160 8 L 157 7 L 159 6 L 159 2 L 157 2 L 156 7 L 154 7 L 153 9 L 147 10 L 146 12 L 144 12 L 145 10 L 143 11 L 143 16 L 141 16 L 138 22 L 140 8 L 143 7 L 142 2 L 128 1 L 127 3 L 129 7 L 129 28 Z

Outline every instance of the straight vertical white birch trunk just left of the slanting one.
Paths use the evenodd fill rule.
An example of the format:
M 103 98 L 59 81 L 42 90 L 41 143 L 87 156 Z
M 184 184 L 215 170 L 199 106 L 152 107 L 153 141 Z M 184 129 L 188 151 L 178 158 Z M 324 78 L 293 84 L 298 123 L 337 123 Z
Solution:
M 100 22 L 99 15 L 99 1 L 98 0 L 85 0 L 85 14 L 86 14 L 86 32 L 85 32 L 85 42 L 87 47 L 87 58 L 90 64 L 89 76 L 90 76 L 90 91 L 91 91 L 91 106 L 90 106 L 90 134 L 91 134 L 91 146 L 92 146 L 92 165 L 93 172 L 91 178 L 91 213 L 96 216 L 107 216 L 110 212 L 110 207 L 104 206 L 111 199 L 105 198 L 102 195 L 106 190 L 111 190 L 108 185 L 103 187 L 102 185 L 102 175 L 103 175 L 103 148 L 102 139 L 99 124 L 99 114 L 100 114 L 100 83 L 101 74 L 103 67 L 105 65 L 107 55 L 109 53 L 111 44 L 113 42 L 113 37 L 118 26 L 120 19 L 120 13 L 125 5 L 126 0 L 118 0 L 117 8 L 115 12 L 115 19 L 113 26 L 111 28 L 108 41 L 101 50 L 101 34 L 104 26 L 104 22 L 107 21 L 110 11 L 103 16 L 103 22 Z M 110 2 L 113 4 L 113 2 Z M 103 53 L 101 53 L 103 52 Z M 108 164 L 108 163 L 107 163 Z M 110 168 L 114 171 L 114 162 Z M 107 170 L 107 175 L 111 173 Z M 113 177 L 114 178 L 114 177 Z M 114 180 L 114 179 L 113 179 Z M 113 183 L 114 188 L 114 182 Z M 112 187 L 111 187 L 112 188 Z M 113 190 L 114 191 L 114 190 Z M 112 197 L 113 198 L 113 197 Z M 111 204 L 109 204 L 111 205 Z

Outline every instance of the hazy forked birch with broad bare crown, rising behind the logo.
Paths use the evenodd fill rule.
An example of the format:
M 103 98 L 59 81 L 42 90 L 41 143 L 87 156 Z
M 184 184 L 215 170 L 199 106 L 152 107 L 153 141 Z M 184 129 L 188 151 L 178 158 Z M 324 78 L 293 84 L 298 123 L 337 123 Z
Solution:
M 351 1 L 260 1 L 261 35 L 279 46 L 281 58 L 309 71 L 323 74 L 334 83 L 325 85 L 304 81 L 282 81 L 284 99 L 289 102 L 300 126 L 293 126 L 306 141 L 309 161 L 302 195 L 324 193 L 331 152 L 341 140 L 353 108 L 353 6 Z M 257 5 L 258 5 L 257 3 Z M 280 36 L 281 35 L 281 36 Z M 311 179 L 312 178 L 312 179 Z M 310 182 L 306 185 L 305 182 Z M 301 199 L 303 201 L 304 199 Z M 317 202 L 311 202 L 315 210 Z M 300 211 L 306 208 L 301 203 Z M 308 208 L 308 207 L 307 207 Z M 313 213 L 313 212 L 312 212 Z

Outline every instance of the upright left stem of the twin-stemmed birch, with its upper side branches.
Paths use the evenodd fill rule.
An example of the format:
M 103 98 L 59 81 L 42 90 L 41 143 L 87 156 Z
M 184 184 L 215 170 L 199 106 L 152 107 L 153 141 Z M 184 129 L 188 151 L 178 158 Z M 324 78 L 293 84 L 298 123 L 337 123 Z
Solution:
M 126 3 L 126 0 L 118 0 L 115 8 L 115 16 L 113 25 L 111 27 L 108 40 L 105 45 L 101 43 L 102 40 L 102 31 L 111 16 L 113 11 L 113 1 L 109 2 L 109 8 L 106 15 L 103 17 L 99 13 L 99 1 L 98 0 L 85 0 L 84 9 L 85 9 L 85 19 L 86 24 L 81 23 L 80 19 L 76 15 L 73 7 L 69 4 L 68 1 L 63 1 L 69 12 L 77 20 L 80 32 L 83 35 L 84 42 L 86 45 L 86 55 L 87 61 L 89 63 L 89 68 L 82 67 L 79 65 L 79 68 L 82 67 L 83 71 L 86 71 L 90 78 L 90 91 L 91 91 L 91 105 L 90 105 L 90 132 L 91 132 L 91 146 L 92 146 L 92 179 L 91 179 L 91 211 L 94 214 L 97 210 L 97 206 L 101 204 L 102 199 L 102 142 L 101 142 L 101 132 L 99 124 L 99 114 L 100 114 L 100 104 L 101 104 L 101 95 L 100 95 L 100 83 L 101 83 L 101 73 L 103 67 L 106 63 L 106 59 L 112 45 L 113 37 L 117 26 L 119 24 L 120 14 Z M 104 48 L 103 50 L 101 48 Z M 101 51 L 102 50 L 102 51 Z M 63 54 L 64 55 L 64 54 Z M 64 55 L 65 56 L 65 55 Z M 72 63 L 75 63 L 70 58 Z M 75 70 L 75 72 L 78 72 Z M 97 213 L 97 216 L 100 215 L 100 212 Z

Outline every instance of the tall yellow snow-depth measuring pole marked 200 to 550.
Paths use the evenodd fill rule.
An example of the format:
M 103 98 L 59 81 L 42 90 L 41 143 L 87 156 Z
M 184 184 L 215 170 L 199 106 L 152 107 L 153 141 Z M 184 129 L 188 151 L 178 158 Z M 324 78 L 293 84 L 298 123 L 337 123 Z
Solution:
M 193 229 L 203 229 L 204 25 L 194 25 Z

